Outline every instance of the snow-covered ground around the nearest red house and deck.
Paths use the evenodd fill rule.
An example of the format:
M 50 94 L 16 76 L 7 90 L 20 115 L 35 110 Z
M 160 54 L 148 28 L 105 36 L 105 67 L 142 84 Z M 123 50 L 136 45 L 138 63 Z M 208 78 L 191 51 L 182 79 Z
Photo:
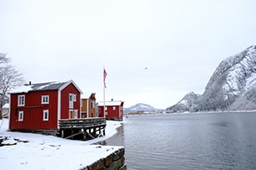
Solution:
M 112 137 L 122 126 L 120 121 L 107 121 L 106 136 L 82 142 L 60 137 L 8 131 L 8 119 L 0 120 L 0 137 L 8 142 L 21 141 L 13 146 L 0 147 L 0 169 L 80 169 L 107 157 L 121 146 L 91 145 Z

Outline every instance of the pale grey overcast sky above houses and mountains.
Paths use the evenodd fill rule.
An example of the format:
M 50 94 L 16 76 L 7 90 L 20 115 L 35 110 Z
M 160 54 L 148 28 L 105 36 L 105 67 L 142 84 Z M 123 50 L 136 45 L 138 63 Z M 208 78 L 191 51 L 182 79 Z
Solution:
M 0 0 L 0 52 L 34 83 L 166 108 L 256 41 L 254 0 Z M 147 67 L 148 70 L 144 70 Z

